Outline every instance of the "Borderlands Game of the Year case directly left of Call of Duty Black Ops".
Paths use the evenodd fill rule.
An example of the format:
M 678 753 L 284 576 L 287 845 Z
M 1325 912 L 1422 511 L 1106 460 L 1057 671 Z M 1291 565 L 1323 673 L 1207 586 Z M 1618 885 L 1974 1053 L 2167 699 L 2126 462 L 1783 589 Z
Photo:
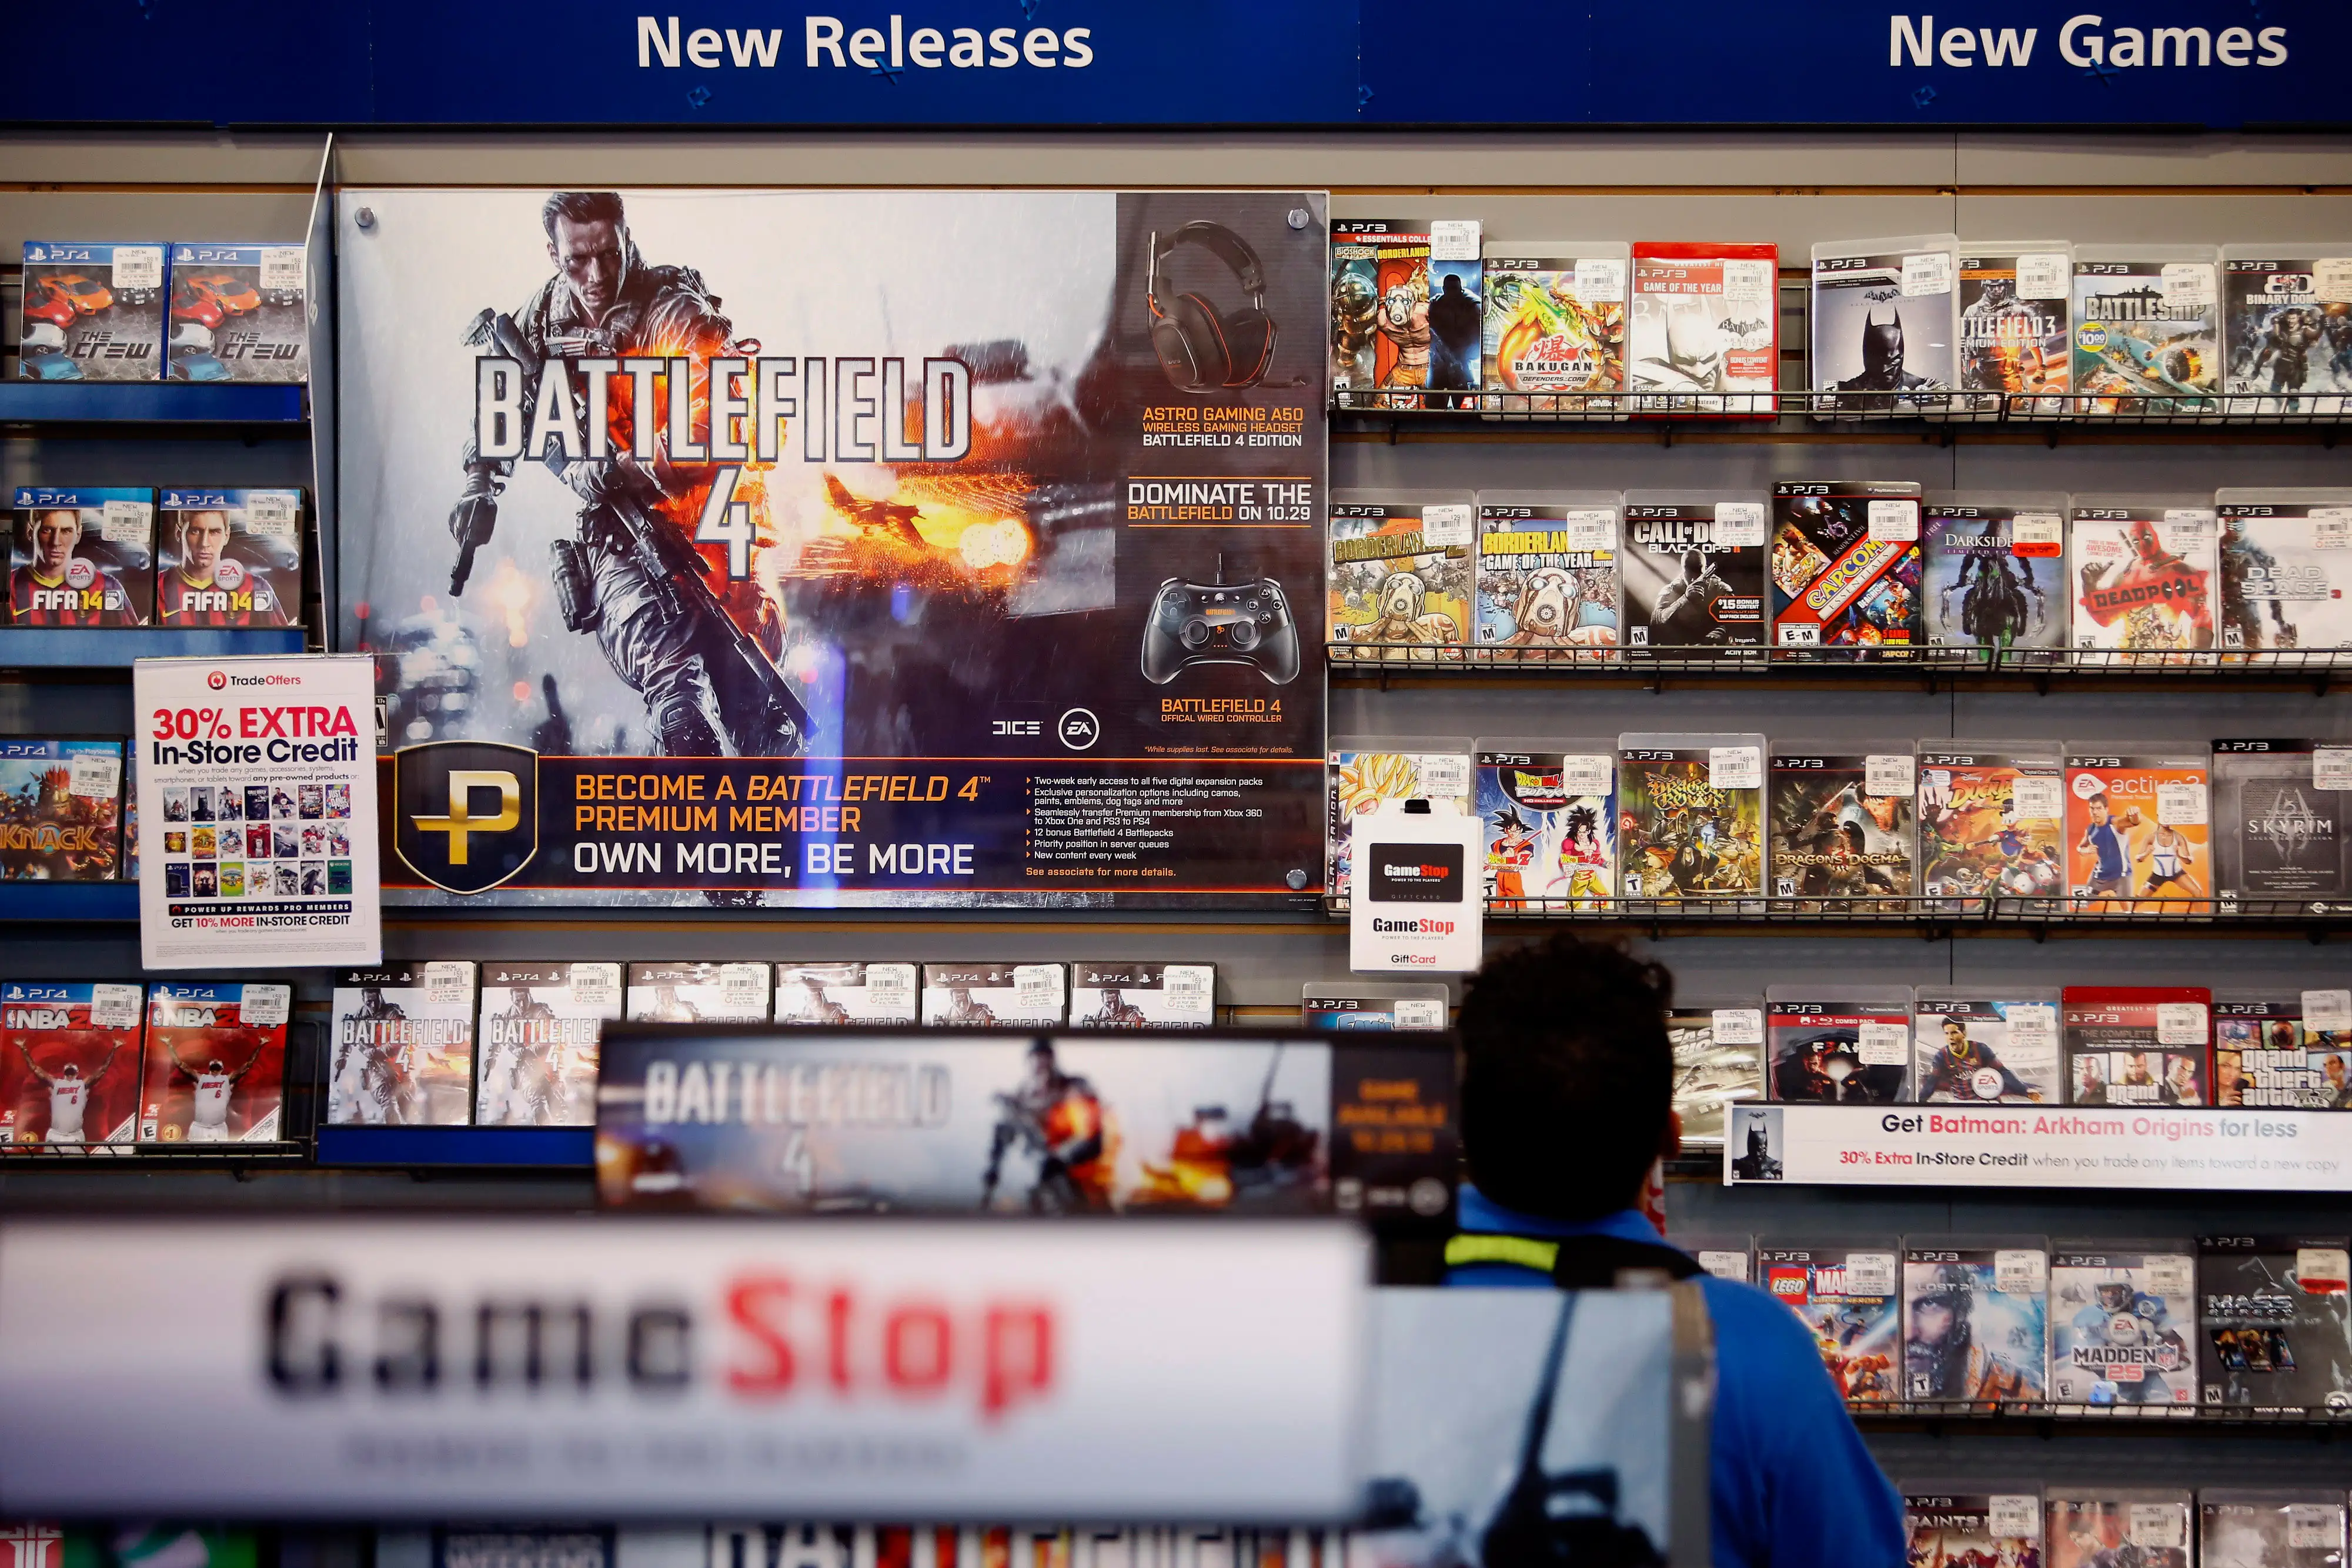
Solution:
M 1616 491 L 1479 491 L 1479 649 L 1531 665 L 1613 649 L 1621 508 Z

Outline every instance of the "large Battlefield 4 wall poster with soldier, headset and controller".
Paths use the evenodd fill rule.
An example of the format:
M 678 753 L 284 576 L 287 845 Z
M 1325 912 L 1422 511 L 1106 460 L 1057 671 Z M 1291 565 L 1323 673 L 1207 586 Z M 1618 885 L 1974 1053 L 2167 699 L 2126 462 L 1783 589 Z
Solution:
M 1319 193 L 339 223 L 390 903 L 1312 905 Z

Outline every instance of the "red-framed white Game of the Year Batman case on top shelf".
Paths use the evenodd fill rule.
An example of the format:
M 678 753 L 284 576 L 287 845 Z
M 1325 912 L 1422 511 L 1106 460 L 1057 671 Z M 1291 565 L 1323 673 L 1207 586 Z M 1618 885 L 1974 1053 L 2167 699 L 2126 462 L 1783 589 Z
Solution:
M 1780 247 L 1642 240 L 1632 247 L 1625 388 L 1637 414 L 1773 414 Z

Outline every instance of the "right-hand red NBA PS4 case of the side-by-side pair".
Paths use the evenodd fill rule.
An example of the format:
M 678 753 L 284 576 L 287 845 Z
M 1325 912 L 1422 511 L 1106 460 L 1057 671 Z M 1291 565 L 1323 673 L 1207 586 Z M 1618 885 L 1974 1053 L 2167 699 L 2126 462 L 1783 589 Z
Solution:
M 151 985 L 139 1143 L 282 1140 L 292 1006 L 289 985 Z

